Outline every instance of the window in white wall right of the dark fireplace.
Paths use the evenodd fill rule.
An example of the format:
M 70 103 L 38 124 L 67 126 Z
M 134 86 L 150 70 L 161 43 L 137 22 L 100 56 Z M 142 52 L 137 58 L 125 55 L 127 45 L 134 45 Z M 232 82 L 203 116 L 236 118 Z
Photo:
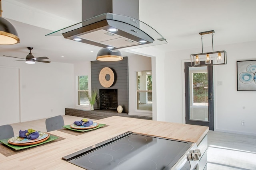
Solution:
M 137 109 L 152 111 L 151 70 L 137 72 Z

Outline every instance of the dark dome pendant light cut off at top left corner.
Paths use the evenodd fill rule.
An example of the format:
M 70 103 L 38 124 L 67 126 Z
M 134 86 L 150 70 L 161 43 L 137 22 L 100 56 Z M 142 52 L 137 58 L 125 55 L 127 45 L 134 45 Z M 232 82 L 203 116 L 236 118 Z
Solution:
M 14 26 L 2 18 L 2 1 L 0 0 L 0 45 L 20 43 L 20 38 Z

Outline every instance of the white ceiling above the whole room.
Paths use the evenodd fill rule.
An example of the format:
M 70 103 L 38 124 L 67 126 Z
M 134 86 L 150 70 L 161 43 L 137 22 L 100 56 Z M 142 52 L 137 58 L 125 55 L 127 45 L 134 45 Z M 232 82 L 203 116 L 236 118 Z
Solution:
M 198 33 L 209 30 L 215 31 L 214 46 L 256 41 L 255 7 L 255 0 L 140 0 L 140 20 L 168 41 L 154 48 L 165 52 L 179 51 L 201 48 Z M 81 0 L 2 0 L 2 10 L 2 16 L 18 31 L 20 43 L 0 45 L 0 56 L 23 58 L 29 52 L 26 47 L 34 47 L 32 54 L 35 57 L 46 56 L 49 61 L 96 60 L 100 47 L 62 36 L 45 37 L 52 31 L 81 21 Z M 204 47 L 212 45 L 210 34 L 204 35 L 203 40 Z

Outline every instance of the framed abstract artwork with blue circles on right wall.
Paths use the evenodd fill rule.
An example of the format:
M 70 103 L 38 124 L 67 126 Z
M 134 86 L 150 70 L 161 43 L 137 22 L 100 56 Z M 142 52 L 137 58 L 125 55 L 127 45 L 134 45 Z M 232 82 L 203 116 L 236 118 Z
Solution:
M 237 61 L 237 91 L 256 91 L 256 60 Z

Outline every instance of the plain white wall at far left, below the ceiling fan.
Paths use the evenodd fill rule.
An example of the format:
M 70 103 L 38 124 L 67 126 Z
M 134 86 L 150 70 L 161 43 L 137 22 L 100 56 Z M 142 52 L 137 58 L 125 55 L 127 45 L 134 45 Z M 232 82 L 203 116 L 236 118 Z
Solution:
M 25 64 L 23 61 L 14 62 L 14 59 L 0 57 L 0 66 L 10 66 L 20 70 L 20 94 L 16 95 L 20 95 L 21 122 L 64 115 L 65 108 L 73 106 L 73 64 L 53 62 Z M 0 98 L 6 96 L 1 95 Z M 5 109 L 0 114 L 10 119 L 8 112 L 9 110 Z

